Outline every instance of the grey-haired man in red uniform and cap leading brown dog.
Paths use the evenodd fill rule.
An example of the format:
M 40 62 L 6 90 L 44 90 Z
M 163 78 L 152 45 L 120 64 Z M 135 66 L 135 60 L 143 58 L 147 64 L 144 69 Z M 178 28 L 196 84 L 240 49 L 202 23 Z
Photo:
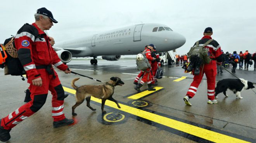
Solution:
M 65 73 L 70 73 L 71 70 L 61 62 L 44 32 L 53 26 L 52 22 L 57 23 L 57 20 L 44 7 L 37 10 L 35 20 L 32 25 L 24 24 L 15 37 L 18 58 L 26 71 L 32 100 L 0 120 L 1 141 L 8 141 L 10 130 L 45 104 L 48 90 L 52 92 L 54 128 L 74 123 L 73 119 L 67 119 L 64 115 L 64 90 L 52 65 Z

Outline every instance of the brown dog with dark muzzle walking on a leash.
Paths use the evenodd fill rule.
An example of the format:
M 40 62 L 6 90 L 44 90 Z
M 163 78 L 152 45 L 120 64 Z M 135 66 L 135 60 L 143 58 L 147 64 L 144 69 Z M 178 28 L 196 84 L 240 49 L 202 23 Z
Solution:
M 107 99 L 115 102 L 118 108 L 121 108 L 118 102 L 112 97 L 112 95 L 114 94 L 114 87 L 116 85 L 122 86 L 123 84 L 125 84 L 119 77 L 111 77 L 110 81 L 106 82 L 103 85 L 82 85 L 81 87 L 77 87 L 76 85 L 74 85 L 74 82 L 76 82 L 76 80 L 79 80 L 79 78 L 75 78 L 71 82 L 71 86 L 76 90 L 76 94 L 75 94 L 76 104 L 72 107 L 73 116 L 77 115 L 74 112 L 76 107 L 82 104 L 85 99 L 86 99 L 86 106 L 92 109 L 92 111 L 96 110 L 90 106 L 91 96 L 102 99 L 102 103 L 101 103 L 102 114 L 106 113 L 106 111 L 104 111 L 104 105 Z

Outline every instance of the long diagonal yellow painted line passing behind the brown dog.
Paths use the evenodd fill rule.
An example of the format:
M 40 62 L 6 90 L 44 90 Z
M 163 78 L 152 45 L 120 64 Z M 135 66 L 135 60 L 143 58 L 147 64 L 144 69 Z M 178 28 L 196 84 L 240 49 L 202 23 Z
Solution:
M 66 92 L 69 92 L 71 94 L 75 94 L 76 90 L 69 89 L 67 87 L 63 87 Z M 92 97 L 91 100 L 98 102 L 101 104 L 101 100 L 97 99 L 95 97 Z M 197 136 L 199 138 L 203 138 L 205 140 L 213 141 L 216 143 L 248 143 L 247 141 L 240 140 L 238 138 L 234 138 L 231 136 L 227 136 L 225 134 L 217 133 L 214 131 L 210 131 L 208 129 L 203 129 L 197 126 L 193 126 L 191 124 L 183 123 L 180 121 L 176 121 L 174 119 L 170 119 L 168 117 L 163 117 L 154 113 L 150 113 L 147 111 L 143 111 L 134 107 L 126 106 L 124 104 L 119 104 L 121 108 L 118 108 L 116 106 L 116 103 L 106 100 L 106 104 L 109 107 L 112 107 L 114 109 L 118 109 L 123 112 L 127 112 L 130 114 L 133 114 L 138 117 L 142 117 L 144 119 L 148 119 L 150 121 L 162 124 L 164 126 L 177 129 L 179 131 L 183 131 L 188 134 L 192 134 L 194 136 Z

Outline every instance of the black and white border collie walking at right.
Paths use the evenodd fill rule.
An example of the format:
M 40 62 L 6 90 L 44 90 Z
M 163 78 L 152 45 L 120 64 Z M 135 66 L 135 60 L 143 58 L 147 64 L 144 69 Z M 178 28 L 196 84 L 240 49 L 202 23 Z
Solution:
M 237 95 L 237 97 L 239 97 L 239 99 L 243 99 L 240 92 L 244 89 L 253 89 L 254 86 L 252 82 L 248 82 L 247 80 L 244 80 L 242 78 L 239 79 L 227 78 L 218 81 L 217 87 L 215 88 L 215 98 L 218 98 L 217 95 L 221 92 L 223 92 L 223 94 L 228 97 L 226 91 L 227 89 L 230 89 L 234 92 L 234 94 Z

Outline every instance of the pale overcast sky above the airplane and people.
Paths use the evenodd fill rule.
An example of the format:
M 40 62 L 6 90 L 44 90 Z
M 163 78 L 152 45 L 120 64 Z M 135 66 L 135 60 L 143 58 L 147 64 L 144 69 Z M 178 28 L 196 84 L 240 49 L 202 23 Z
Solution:
M 2 0 L 0 43 L 41 7 L 59 22 L 48 31 L 55 43 L 140 23 L 160 23 L 186 37 L 185 54 L 206 27 L 224 52 L 256 51 L 256 0 Z

